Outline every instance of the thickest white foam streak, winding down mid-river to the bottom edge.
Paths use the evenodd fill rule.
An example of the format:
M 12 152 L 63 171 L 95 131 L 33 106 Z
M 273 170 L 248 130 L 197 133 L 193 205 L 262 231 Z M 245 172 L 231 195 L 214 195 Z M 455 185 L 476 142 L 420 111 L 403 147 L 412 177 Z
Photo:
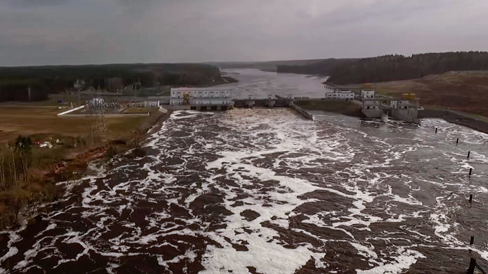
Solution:
M 205 271 L 201 273 L 248 273 L 247 266 L 256 268 L 260 273 L 294 273 L 310 259 L 314 259 L 317 266 L 325 267 L 325 264 L 320 261 L 325 253 L 313 252 L 307 248 L 309 245 L 298 245 L 293 249 L 284 248 L 283 243 L 277 240 L 280 235 L 274 229 L 262 225 L 263 222 L 268 221 L 280 227 L 288 227 L 289 213 L 300 204 L 313 202 L 313 200 L 298 197 L 320 189 L 306 180 L 276 175 L 273 170 L 259 168 L 245 160 L 250 157 L 263 159 L 264 155 L 277 152 L 285 154 L 298 152 L 303 147 L 303 143 L 297 143 L 296 139 L 290 138 L 284 132 L 286 131 L 277 130 L 276 137 L 280 143 L 273 143 L 274 148 L 272 149 L 243 152 L 221 151 L 218 152 L 220 159 L 207 163 L 208 170 L 224 169 L 228 177 L 239 179 L 235 182 L 243 186 L 249 184 L 242 179 L 243 176 L 255 178 L 257 182 L 273 181 L 279 185 L 274 187 L 275 191 L 267 191 L 264 194 L 248 191 L 250 198 L 245 198 L 243 205 L 234 207 L 231 205 L 234 203 L 231 199 L 236 197 L 233 189 L 218 187 L 220 191 L 226 193 L 224 204 L 232 214 L 225 218 L 227 227 L 210 233 L 212 239 L 220 243 L 223 248 L 208 246 L 207 253 L 202 258 Z M 303 135 L 299 131 L 289 132 L 292 135 Z M 276 166 L 276 163 L 273 166 Z M 239 172 L 236 173 L 234 170 L 239 170 Z M 263 206 L 265 202 L 268 207 Z M 247 210 L 254 211 L 259 216 L 254 220 L 246 220 L 241 213 Z M 272 218 L 275 218 L 274 222 Z M 244 232 L 243 229 L 250 229 L 252 232 Z M 225 239 L 230 239 L 232 243 L 245 243 L 247 251 L 234 249 L 232 244 Z

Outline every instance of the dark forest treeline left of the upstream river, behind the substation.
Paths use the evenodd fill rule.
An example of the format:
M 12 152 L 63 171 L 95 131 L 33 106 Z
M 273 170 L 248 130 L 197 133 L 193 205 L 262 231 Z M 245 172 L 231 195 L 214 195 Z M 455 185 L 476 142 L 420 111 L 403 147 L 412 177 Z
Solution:
M 84 88 L 119 90 L 124 86 L 208 86 L 222 81 L 218 67 L 207 64 L 115 64 L 0 67 L 0 102 L 47 99 L 49 93 Z

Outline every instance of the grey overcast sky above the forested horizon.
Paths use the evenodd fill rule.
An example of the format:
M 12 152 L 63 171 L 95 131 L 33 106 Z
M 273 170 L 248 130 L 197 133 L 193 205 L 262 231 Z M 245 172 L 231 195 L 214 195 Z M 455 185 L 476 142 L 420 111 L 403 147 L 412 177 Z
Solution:
M 0 66 L 488 50 L 488 0 L 0 0 Z

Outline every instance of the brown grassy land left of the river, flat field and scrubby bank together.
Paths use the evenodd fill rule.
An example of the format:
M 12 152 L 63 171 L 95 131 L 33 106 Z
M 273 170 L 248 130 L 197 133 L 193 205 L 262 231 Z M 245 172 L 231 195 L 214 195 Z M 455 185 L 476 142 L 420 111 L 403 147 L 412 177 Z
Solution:
M 102 121 L 82 115 L 58 117 L 63 110 L 52 106 L 0 106 L 0 229 L 17 223 L 20 208 L 27 207 L 26 214 L 32 214 L 39 202 L 58 198 L 62 191 L 55 183 L 81 177 L 90 161 L 134 147 L 137 142 L 132 139 L 140 141 L 141 134 L 164 115 L 155 110 L 136 108 L 131 111 L 151 115 L 105 117 Z M 20 152 L 20 146 L 13 149 L 20 135 L 29 136 L 32 142 L 26 154 Z M 38 141 L 52 147 L 39 147 Z

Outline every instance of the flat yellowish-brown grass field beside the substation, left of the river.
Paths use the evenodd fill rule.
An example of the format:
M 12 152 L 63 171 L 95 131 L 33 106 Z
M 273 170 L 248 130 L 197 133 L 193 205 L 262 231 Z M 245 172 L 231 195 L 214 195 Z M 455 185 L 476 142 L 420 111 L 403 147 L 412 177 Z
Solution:
M 60 136 L 86 138 L 91 128 L 100 123 L 91 117 L 60 118 L 56 114 L 61 112 L 52 107 L 7 107 L 0 106 L 0 143 L 13 140 L 18 135 L 52 134 Z M 124 138 L 135 131 L 145 117 L 116 117 L 105 118 L 107 130 L 97 132 L 101 140 Z

